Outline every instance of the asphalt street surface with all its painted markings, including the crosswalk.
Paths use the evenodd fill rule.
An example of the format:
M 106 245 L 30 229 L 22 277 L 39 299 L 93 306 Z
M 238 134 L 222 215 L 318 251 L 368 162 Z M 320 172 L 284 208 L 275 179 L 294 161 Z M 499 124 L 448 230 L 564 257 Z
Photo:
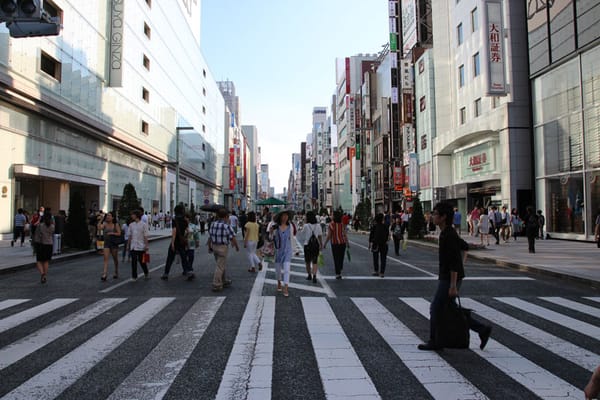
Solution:
M 102 257 L 0 275 L 1 399 L 536 399 L 583 398 L 600 364 L 600 291 L 469 258 L 462 303 L 493 325 L 487 347 L 417 350 L 429 333 L 437 248 L 388 253 L 372 276 L 367 236 L 351 234 L 336 280 L 331 249 L 317 283 L 302 256 L 290 297 L 272 265 L 247 272 L 230 249 L 233 284 L 211 291 L 214 259 L 197 250 L 196 279 L 168 241 L 151 243 L 151 274 L 100 281 Z M 390 243 L 391 244 L 391 243 Z

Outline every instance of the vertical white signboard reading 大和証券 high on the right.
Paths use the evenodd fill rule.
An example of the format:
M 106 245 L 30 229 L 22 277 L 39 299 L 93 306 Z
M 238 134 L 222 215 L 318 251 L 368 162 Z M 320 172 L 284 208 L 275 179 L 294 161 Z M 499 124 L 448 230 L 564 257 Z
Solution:
M 506 95 L 506 54 L 504 52 L 502 0 L 486 0 L 485 29 L 485 65 L 488 70 L 487 92 L 492 96 Z

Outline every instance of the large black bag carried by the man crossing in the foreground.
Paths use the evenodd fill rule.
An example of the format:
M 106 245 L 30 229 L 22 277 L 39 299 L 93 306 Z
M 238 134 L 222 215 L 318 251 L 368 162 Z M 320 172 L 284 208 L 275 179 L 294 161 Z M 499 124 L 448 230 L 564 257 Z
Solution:
M 457 298 L 458 299 L 458 298 Z M 454 349 L 469 348 L 469 318 L 471 310 L 449 301 L 442 309 L 435 331 L 438 346 Z

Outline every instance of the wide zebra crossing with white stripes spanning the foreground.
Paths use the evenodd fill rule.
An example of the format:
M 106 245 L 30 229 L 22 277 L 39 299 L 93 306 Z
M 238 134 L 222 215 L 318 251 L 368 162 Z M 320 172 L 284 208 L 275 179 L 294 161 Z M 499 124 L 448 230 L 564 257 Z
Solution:
M 294 379 L 274 368 L 277 355 L 303 358 L 317 371 L 320 379 L 307 384 L 320 396 L 313 391 L 311 398 L 494 399 L 498 380 L 515 398 L 579 399 L 581 383 L 600 365 L 598 297 L 463 298 L 494 326 L 492 338 L 485 350 L 471 335 L 469 350 L 442 352 L 417 349 L 428 335 L 430 303 L 421 297 L 284 299 L 253 292 L 238 303 L 223 296 L 0 300 L 0 399 L 55 399 L 114 374 L 102 378 L 109 382 L 102 396 L 90 390 L 88 398 L 265 400 Z M 291 312 L 303 329 L 286 331 Z M 157 320 L 171 323 L 159 338 Z M 368 342 L 357 341 L 360 330 Z M 299 335 L 310 343 L 301 353 L 281 348 Z M 131 344 L 150 337 L 151 347 Z M 114 354 L 128 346 L 144 353 L 121 354 L 136 361 L 119 368 Z M 366 362 L 366 347 L 408 371 L 413 388 L 378 379 L 389 365 Z M 209 353 L 221 361 L 194 369 Z M 290 397 L 303 398 L 303 385 Z

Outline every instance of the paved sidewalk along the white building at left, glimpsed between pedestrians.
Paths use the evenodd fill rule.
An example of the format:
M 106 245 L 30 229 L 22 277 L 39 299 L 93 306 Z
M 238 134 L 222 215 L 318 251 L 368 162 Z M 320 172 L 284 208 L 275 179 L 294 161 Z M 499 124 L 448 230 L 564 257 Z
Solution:
M 170 229 L 150 230 L 148 240 L 158 240 L 171 236 Z M 73 258 L 83 257 L 94 254 L 95 250 L 73 251 L 52 256 L 52 262 L 61 260 L 71 260 Z M 0 274 L 17 271 L 20 269 L 35 268 L 35 256 L 33 249 L 29 244 L 29 238 L 25 238 L 25 243 L 21 247 L 20 240 L 14 247 L 10 246 L 10 240 L 0 240 Z

